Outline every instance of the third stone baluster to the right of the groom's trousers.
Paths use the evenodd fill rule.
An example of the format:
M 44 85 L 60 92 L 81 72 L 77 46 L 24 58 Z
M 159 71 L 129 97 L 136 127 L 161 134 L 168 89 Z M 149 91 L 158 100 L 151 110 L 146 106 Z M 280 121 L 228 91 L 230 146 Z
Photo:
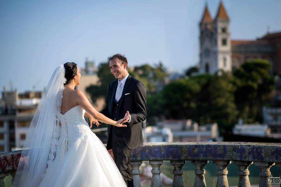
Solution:
M 174 166 L 173 187 L 184 187 L 184 182 L 182 180 L 182 167 L 185 164 L 185 160 L 171 160 L 170 163 Z

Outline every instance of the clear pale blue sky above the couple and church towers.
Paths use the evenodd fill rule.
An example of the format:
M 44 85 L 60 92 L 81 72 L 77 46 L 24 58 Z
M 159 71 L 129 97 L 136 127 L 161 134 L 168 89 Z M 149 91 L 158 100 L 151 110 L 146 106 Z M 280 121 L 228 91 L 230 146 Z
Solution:
M 96 64 L 121 53 L 128 65 L 160 60 L 182 72 L 198 63 L 205 3 L 212 17 L 219 0 L 0 1 L 0 89 L 42 90 L 59 64 L 85 58 Z M 232 39 L 281 31 L 280 0 L 224 0 Z

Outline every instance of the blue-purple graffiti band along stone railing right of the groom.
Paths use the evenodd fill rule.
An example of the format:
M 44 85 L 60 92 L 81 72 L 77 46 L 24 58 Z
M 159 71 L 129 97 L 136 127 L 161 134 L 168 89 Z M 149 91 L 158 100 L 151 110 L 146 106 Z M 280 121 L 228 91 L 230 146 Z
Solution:
M 136 148 L 132 156 L 136 160 L 172 159 L 172 160 L 280 160 L 281 148 L 277 147 L 271 150 L 267 145 L 249 146 L 249 145 L 229 145 L 229 144 L 195 144 L 195 145 L 153 145 Z M 275 150 L 275 151 L 274 151 Z M 270 156 L 272 155 L 272 156 Z

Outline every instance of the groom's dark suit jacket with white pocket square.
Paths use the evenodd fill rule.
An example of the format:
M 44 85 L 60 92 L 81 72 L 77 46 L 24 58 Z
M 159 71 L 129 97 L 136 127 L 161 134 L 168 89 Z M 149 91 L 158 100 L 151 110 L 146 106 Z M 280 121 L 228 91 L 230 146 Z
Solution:
M 121 131 L 124 142 L 129 149 L 143 146 L 143 134 L 141 122 L 146 119 L 146 90 L 142 82 L 134 77 L 128 76 L 122 96 L 119 100 L 119 118 L 113 118 L 114 99 L 116 89 L 118 85 L 118 79 L 109 84 L 106 106 L 101 113 L 112 120 L 119 120 L 124 117 L 128 110 L 131 115 L 131 121 L 126 122 L 127 127 L 114 127 L 115 130 Z M 127 94 L 125 96 L 126 93 Z M 107 126 L 107 150 L 112 149 L 111 145 L 111 128 L 113 125 Z

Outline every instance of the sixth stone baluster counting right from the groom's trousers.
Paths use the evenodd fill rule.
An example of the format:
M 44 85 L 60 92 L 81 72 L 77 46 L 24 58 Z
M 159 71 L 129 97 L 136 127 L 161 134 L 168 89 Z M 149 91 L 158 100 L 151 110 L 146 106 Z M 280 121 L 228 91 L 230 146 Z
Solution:
M 248 167 L 253 164 L 253 162 L 246 162 L 246 161 L 234 161 L 234 164 L 239 167 L 239 182 L 238 187 L 251 187 L 249 181 L 249 169 Z

